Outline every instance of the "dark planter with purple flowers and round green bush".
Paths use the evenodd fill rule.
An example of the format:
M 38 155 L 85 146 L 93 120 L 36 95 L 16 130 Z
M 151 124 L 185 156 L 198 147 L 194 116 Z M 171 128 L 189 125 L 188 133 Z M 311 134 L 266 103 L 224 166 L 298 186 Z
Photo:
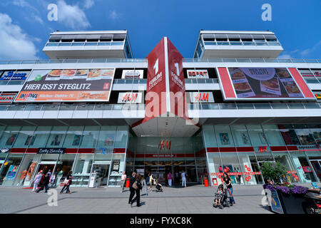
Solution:
M 263 185 L 265 190 L 270 190 L 277 193 L 280 199 L 280 206 L 285 214 L 303 214 L 305 213 L 305 194 L 307 188 L 297 185 L 290 185 L 289 183 L 275 183 L 282 179 L 286 180 L 287 175 L 285 167 L 280 162 L 270 163 L 265 162 L 261 167 L 261 172 L 265 179 L 273 180 L 274 183 Z

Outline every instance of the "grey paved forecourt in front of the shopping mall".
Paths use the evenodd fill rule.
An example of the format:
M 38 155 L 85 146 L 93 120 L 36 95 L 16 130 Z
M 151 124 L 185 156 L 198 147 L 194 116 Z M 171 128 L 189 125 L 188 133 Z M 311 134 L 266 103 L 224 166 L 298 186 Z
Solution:
M 56 189 L 58 192 L 61 187 Z M 269 214 L 261 205 L 262 186 L 234 186 L 236 204 L 218 209 L 213 207 L 216 187 L 195 185 L 187 188 L 165 187 L 164 192 L 141 193 L 141 207 L 128 204 L 129 191 L 120 188 L 71 188 L 72 194 L 57 194 L 57 206 L 49 206 L 49 195 L 21 187 L 0 187 L 0 213 L 71 213 L 71 214 Z

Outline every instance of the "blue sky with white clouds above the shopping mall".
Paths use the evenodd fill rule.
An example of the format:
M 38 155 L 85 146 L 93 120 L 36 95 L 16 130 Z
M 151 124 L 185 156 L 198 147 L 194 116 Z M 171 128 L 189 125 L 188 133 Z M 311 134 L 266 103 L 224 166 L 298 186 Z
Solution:
M 58 21 L 47 6 L 58 5 Z M 272 21 L 263 21 L 263 4 Z M 134 58 L 145 58 L 168 36 L 191 58 L 200 29 L 270 30 L 281 58 L 321 58 L 321 1 L 1 0 L 0 59 L 47 58 L 41 51 L 52 31 L 127 29 Z

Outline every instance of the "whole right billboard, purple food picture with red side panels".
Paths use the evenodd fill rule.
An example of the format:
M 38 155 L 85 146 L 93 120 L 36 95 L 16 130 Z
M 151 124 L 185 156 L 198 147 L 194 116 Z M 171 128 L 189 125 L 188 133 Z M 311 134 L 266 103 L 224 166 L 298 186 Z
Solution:
M 314 99 L 295 68 L 218 68 L 225 99 Z

